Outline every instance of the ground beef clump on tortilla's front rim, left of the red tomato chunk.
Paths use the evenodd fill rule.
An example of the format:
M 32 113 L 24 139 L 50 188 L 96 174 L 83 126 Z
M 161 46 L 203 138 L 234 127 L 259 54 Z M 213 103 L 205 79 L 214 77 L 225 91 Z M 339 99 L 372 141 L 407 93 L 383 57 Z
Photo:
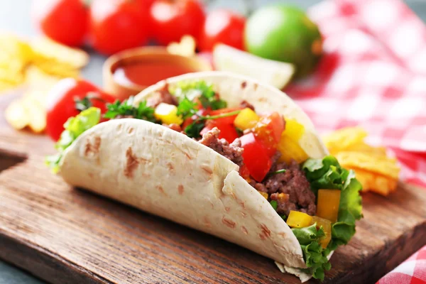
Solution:
M 244 165 L 243 163 L 243 151 L 241 148 L 241 141 L 239 138 L 236 138 L 231 144 L 228 143 L 224 138 L 219 139 L 219 129 L 214 127 L 214 129 L 204 133 L 201 140 L 198 141 L 202 145 L 212 148 L 217 153 L 223 155 L 225 158 L 228 158 L 232 162 L 236 163 L 240 167 Z

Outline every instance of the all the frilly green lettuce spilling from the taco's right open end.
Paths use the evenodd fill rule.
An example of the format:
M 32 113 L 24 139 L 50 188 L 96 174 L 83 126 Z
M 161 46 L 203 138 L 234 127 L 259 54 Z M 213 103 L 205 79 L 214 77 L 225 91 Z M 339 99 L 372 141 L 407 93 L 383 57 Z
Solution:
M 339 217 L 332 224 L 332 240 L 326 249 L 322 249 L 320 240 L 324 236 L 322 227 L 316 224 L 300 229 L 292 229 L 302 247 L 307 269 L 305 272 L 319 280 L 324 280 L 324 271 L 331 268 L 327 256 L 338 246 L 347 244 L 355 234 L 355 221 L 361 219 L 361 183 L 352 170 L 339 165 L 336 158 L 329 155 L 323 159 L 308 159 L 303 165 L 311 189 L 317 195 L 322 188 L 342 190 L 339 204 Z

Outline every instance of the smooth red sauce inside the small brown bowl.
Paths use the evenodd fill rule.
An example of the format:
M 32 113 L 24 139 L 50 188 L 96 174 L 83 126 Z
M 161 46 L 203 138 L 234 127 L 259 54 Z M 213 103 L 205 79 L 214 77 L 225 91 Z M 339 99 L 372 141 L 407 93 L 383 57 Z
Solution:
M 190 72 L 196 72 L 185 65 L 175 65 L 168 62 L 130 62 L 114 70 L 114 80 L 126 87 L 149 86 L 169 77 L 175 77 Z

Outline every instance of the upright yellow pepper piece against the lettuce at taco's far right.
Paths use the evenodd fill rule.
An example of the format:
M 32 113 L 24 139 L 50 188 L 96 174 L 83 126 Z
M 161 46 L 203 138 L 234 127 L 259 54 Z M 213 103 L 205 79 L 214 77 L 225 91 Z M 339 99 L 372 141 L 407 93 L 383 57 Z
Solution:
M 337 221 L 340 204 L 340 190 L 318 190 L 317 216 L 330 220 L 332 223 Z

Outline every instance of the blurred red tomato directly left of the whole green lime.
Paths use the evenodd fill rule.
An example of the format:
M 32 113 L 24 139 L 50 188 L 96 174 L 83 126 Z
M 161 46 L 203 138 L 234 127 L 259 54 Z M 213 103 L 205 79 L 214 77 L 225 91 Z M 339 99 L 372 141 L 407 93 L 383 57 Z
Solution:
M 212 11 L 202 26 L 198 47 L 201 51 L 211 51 L 217 43 L 224 43 L 244 50 L 244 26 L 244 16 L 224 9 Z

